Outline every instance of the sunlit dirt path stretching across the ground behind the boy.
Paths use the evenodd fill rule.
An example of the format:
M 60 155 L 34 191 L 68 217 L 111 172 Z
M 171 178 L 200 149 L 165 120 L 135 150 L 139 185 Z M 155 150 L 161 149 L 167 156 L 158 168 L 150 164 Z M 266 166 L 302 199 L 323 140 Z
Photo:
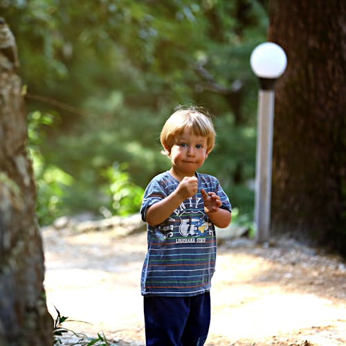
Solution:
M 64 322 L 73 331 L 145 345 L 139 289 L 145 233 L 47 229 L 43 237 L 51 313 L 55 305 L 84 321 Z M 336 256 L 290 240 L 270 248 L 244 239 L 221 244 L 211 293 L 207 346 L 346 344 L 346 265 Z

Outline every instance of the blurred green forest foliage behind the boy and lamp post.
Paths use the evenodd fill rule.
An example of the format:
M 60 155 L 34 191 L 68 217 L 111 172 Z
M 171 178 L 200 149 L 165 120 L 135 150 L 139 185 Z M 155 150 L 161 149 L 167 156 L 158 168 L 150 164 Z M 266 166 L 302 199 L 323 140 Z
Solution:
M 41 225 L 129 215 L 167 170 L 158 140 L 178 104 L 215 116 L 201 172 L 219 178 L 251 227 L 257 78 L 267 1 L 1 0 L 17 40 Z

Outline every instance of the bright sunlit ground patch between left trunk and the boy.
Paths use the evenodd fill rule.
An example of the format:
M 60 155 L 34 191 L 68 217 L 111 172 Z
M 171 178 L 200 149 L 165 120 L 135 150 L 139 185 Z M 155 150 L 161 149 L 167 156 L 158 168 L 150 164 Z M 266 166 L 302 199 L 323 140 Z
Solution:
M 123 279 L 131 280 L 126 274 Z M 143 300 L 138 285 L 127 284 L 123 289 L 116 275 L 80 269 L 51 271 L 46 275 L 45 284 L 47 305 L 53 316 L 55 306 L 63 316 L 69 316 L 69 320 L 90 323 L 89 330 L 95 332 L 109 333 L 143 324 Z M 69 322 L 64 324 L 69 327 Z M 76 331 L 81 330 L 78 324 L 70 325 L 75 325 Z

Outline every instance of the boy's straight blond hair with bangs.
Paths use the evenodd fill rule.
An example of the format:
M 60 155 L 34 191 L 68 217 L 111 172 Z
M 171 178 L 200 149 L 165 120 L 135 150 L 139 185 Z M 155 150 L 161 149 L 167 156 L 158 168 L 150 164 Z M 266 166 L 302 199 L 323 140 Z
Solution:
M 163 125 L 160 135 L 163 154 L 167 154 L 166 148 L 172 149 L 176 136 L 182 134 L 185 129 L 192 131 L 195 136 L 206 137 L 207 152 L 212 151 L 216 134 L 210 114 L 201 107 L 188 107 L 175 111 Z

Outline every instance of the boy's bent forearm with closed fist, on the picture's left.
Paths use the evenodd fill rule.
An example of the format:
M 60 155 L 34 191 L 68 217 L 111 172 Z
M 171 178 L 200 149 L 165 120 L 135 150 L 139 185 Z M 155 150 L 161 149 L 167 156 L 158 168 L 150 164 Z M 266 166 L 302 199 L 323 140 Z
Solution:
M 161 224 L 170 217 L 172 212 L 178 208 L 185 199 L 192 197 L 197 193 L 198 179 L 195 176 L 185 176 L 179 183 L 176 190 L 161 201 L 149 206 L 145 214 L 145 221 L 150 226 Z

